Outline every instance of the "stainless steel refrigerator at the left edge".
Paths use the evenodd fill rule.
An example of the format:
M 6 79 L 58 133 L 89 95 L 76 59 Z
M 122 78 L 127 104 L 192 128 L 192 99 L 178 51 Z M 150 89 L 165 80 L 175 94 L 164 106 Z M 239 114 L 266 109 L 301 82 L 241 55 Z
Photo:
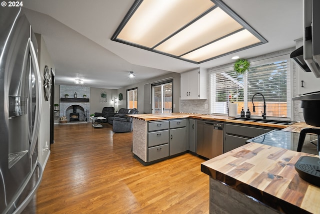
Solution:
M 0 8 L 0 213 L 20 213 L 42 178 L 37 157 L 41 79 L 21 8 Z

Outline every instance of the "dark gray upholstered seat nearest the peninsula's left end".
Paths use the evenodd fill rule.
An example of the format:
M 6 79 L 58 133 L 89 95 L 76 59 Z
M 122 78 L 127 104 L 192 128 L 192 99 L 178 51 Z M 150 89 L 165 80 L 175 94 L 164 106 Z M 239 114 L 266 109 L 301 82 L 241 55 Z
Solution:
M 138 110 L 133 108 L 129 114 L 137 114 Z M 132 117 L 125 115 L 118 115 L 113 119 L 112 130 L 114 133 L 131 132 L 132 131 Z

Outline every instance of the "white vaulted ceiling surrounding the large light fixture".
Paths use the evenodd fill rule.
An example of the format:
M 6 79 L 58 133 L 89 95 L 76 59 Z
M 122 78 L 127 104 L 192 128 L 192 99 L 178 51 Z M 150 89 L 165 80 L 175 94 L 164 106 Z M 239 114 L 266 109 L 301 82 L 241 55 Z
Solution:
M 132 0 L 24 0 L 33 31 L 42 35 L 55 66 L 56 84 L 117 89 L 170 72 L 234 62 L 226 55 L 201 64 L 111 41 Z M 236 53 L 250 58 L 295 46 L 302 38 L 300 0 L 224 0 L 268 43 Z M 128 78 L 129 71 L 135 74 Z

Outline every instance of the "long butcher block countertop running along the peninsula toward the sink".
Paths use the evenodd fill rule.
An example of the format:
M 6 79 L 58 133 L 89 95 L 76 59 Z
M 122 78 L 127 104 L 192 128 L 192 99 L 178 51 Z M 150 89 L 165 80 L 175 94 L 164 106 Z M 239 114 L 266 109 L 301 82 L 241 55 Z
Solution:
M 247 125 L 268 126 L 268 127 L 275 127 L 275 128 L 286 128 L 289 126 L 289 125 L 282 125 L 282 124 L 275 124 L 275 123 L 233 120 L 231 118 L 228 118 L 228 116 L 189 114 L 189 113 L 129 114 L 128 116 L 138 120 L 144 120 L 144 121 L 194 118 L 194 119 L 214 120 L 214 121 L 222 121 L 222 122 L 230 122 L 230 123 L 241 123 L 241 124 L 247 124 Z

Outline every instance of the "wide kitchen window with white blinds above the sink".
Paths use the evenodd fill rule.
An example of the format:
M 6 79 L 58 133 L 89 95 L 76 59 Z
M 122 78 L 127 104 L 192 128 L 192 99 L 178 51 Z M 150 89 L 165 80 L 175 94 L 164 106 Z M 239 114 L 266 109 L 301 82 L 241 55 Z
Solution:
M 288 55 L 250 62 L 250 70 L 236 74 L 233 67 L 210 72 L 210 113 L 227 115 L 228 103 L 238 104 L 237 114 L 243 107 L 252 116 L 261 116 L 263 98 L 252 96 L 260 93 L 266 103 L 266 116 L 291 118 L 290 59 Z

